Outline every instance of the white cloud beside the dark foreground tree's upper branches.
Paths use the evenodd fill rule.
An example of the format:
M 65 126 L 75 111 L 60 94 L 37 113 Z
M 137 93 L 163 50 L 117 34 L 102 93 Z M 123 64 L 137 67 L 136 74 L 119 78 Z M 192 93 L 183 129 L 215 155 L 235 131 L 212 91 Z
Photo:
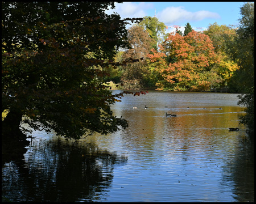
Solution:
M 115 9 L 106 11 L 106 14 L 113 14 L 114 11 L 117 12 L 121 18 L 143 18 L 147 15 L 146 10 L 152 7 L 152 3 L 146 2 L 140 2 L 138 4 L 134 2 L 115 3 Z

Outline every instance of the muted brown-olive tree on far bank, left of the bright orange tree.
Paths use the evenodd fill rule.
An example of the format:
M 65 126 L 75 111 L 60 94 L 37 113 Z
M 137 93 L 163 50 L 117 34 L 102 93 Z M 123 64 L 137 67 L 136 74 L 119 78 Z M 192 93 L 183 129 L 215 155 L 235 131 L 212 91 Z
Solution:
M 136 90 L 143 86 L 143 76 L 146 74 L 144 59 L 150 53 L 153 40 L 148 32 L 139 25 L 133 25 L 128 29 L 128 40 L 131 48 L 123 53 L 123 59 L 135 58 L 142 60 L 123 66 L 122 82 L 125 89 Z

